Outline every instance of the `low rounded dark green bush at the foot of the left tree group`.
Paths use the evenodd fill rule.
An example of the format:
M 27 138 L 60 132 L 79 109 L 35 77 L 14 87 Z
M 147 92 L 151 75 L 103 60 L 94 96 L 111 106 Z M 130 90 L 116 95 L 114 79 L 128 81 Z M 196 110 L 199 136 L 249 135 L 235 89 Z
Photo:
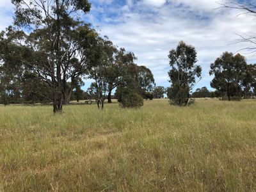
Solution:
M 120 103 L 123 108 L 140 108 L 143 106 L 143 98 L 138 93 L 129 93 Z

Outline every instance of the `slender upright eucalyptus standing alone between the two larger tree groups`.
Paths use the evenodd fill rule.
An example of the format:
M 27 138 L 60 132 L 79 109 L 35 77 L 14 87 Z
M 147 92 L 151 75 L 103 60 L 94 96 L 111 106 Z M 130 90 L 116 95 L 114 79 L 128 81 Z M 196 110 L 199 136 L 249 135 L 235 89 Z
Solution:
M 196 83 L 196 77 L 201 77 L 202 68 L 195 65 L 196 50 L 191 45 L 179 42 L 176 49 L 169 54 L 171 70 L 168 72 L 171 87 L 168 89 L 168 97 L 171 104 L 186 106 L 189 101 L 189 92 Z

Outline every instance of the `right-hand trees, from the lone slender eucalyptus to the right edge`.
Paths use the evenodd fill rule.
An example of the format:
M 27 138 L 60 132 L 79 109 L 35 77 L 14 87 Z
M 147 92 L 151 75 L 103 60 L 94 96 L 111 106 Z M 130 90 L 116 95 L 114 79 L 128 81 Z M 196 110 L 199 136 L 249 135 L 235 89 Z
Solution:
M 247 64 L 241 54 L 223 52 L 211 64 L 209 74 L 214 76 L 209 92 L 206 87 L 198 88 L 191 95 L 195 84 L 202 78 L 202 68 L 196 65 L 196 51 L 192 45 L 180 42 L 169 54 L 171 70 L 168 72 L 172 85 L 167 90 L 171 104 L 187 106 L 192 97 L 221 97 L 227 100 L 250 98 L 256 93 L 256 65 Z

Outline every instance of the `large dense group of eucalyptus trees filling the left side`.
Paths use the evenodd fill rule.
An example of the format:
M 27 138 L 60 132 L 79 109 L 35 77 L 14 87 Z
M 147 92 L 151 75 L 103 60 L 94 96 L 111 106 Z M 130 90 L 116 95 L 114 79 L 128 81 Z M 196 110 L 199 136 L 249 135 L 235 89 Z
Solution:
M 150 69 L 134 53 L 113 45 L 80 18 L 87 0 L 12 0 L 14 26 L 0 33 L 0 91 L 7 102 L 52 102 L 54 113 L 70 99 L 95 99 L 99 108 L 113 90 L 125 106 L 155 87 Z M 93 83 L 84 92 L 84 79 Z

